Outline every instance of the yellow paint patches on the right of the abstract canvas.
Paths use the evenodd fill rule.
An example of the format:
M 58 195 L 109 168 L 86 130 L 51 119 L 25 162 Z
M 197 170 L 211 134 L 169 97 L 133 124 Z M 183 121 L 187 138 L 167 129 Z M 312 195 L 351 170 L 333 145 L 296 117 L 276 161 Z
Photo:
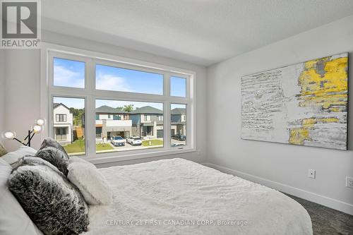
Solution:
M 307 61 L 298 82 L 299 107 L 322 107 L 328 112 L 345 112 L 348 92 L 348 57 L 330 59 L 325 57 Z M 310 130 L 317 123 L 337 123 L 335 117 L 308 118 L 301 120 L 301 127 L 289 129 L 289 143 L 303 145 L 311 140 Z

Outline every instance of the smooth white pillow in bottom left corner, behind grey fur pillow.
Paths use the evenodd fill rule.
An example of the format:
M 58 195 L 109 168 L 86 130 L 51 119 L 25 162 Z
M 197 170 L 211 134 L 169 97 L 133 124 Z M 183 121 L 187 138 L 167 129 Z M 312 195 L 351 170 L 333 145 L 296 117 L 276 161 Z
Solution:
M 8 176 L 12 167 L 0 157 L 0 234 L 42 235 L 20 203 L 8 190 Z

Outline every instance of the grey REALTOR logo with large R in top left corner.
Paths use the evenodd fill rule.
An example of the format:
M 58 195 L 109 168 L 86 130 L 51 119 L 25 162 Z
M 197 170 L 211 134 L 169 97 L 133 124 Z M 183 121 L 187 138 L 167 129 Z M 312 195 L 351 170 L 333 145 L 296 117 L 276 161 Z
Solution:
M 1 1 L 0 48 L 40 46 L 40 1 Z

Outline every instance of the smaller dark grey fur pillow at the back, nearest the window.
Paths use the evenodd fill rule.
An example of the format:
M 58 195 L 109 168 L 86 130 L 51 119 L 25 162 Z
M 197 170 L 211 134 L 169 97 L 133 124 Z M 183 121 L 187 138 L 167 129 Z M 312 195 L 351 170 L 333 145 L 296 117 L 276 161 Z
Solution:
M 35 157 L 40 157 L 47 162 L 53 164 L 59 171 L 61 171 L 65 176 L 68 174 L 68 156 L 64 154 L 63 151 L 56 147 L 44 147 L 35 154 Z

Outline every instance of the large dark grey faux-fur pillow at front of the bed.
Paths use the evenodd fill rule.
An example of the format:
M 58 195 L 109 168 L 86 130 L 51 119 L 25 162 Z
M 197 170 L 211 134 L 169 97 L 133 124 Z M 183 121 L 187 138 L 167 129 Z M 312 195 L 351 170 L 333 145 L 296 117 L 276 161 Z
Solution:
M 44 234 L 80 234 L 88 230 L 88 206 L 83 196 L 44 159 L 20 159 L 8 179 L 8 188 Z

